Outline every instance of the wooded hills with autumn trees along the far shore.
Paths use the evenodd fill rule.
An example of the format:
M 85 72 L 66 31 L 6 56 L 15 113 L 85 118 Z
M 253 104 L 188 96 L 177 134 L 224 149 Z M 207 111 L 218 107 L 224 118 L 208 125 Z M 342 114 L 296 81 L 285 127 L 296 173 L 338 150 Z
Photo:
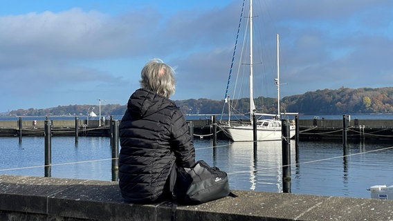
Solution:
M 175 100 L 182 113 L 221 114 L 228 113 L 228 104 L 224 100 L 185 99 Z M 247 113 L 250 102 L 246 98 L 235 99 L 230 103 L 239 113 Z M 255 106 L 260 113 L 277 113 L 277 98 L 257 97 Z M 393 87 L 386 88 L 339 88 L 324 89 L 283 97 L 280 102 L 281 112 L 298 112 L 306 115 L 341 115 L 346 113 L 393 113 Z M 104 104 L 101 115 L 123 115 L 127 105 Z M 90 111 L 98 114 L 98 105 L 68 105 L 53 108 L 29 108 L 10 111 L 12 116 L 62 116 L 87 115 Z

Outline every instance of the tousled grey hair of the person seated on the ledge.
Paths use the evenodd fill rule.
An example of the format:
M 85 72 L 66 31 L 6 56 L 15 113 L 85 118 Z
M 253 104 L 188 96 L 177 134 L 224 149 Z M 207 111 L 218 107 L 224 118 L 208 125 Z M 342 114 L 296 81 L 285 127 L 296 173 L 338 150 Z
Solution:
M 140 72 L 140 86 L 158 95 L 169 98 L 174 94 L 176 81 L 174 68 L 161 59 L 152 59 Z

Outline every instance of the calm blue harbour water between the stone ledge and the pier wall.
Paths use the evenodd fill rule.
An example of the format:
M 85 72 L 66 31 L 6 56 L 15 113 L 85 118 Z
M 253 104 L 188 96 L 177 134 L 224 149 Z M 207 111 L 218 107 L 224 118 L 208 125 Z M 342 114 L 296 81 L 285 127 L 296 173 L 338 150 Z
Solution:
M 52 137 L 52 177 L 111 180 L 108 137 Z M 227 171 L 231 189 L 282 192 L 281 142 L 194 140 L 197 160 Z M 393 184 L 390 144 L 301 142 L 298 159 L 291 143 L 291 193 L 370 198 L 367 188 Z M 44 176 L 44 137 L 0 137 L 0 173 Z

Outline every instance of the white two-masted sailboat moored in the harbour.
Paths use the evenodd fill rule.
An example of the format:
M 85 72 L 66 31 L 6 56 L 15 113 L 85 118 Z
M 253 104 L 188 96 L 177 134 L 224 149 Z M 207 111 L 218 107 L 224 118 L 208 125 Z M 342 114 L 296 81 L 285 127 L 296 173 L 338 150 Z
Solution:
M 238 141 L 253 141 L 253 115 L 256 117 L 270 117 L 270 119 L 257 120 L 257 141 L 271 141 L 282 140 L 282 122 L 280 117 L 280 55 L 279 55 L 279 35 L 277 35 L 277 78 L 275 79 L 275 86 L 277 86 L 277 113 L 263 114 L 257 113 L 253 99 L 253 1 L 250 0 L 250 122 L 231 122 L 230 121 L 230 101 L 228 102 L 229 119 L 226 125 L 221 126 L 224 133 L 228 135 L 230 140 Z M 295 113 L 291 113 L 295 114 Z M 290 137 L 295 135 L 295 125 L 290 126 Z

